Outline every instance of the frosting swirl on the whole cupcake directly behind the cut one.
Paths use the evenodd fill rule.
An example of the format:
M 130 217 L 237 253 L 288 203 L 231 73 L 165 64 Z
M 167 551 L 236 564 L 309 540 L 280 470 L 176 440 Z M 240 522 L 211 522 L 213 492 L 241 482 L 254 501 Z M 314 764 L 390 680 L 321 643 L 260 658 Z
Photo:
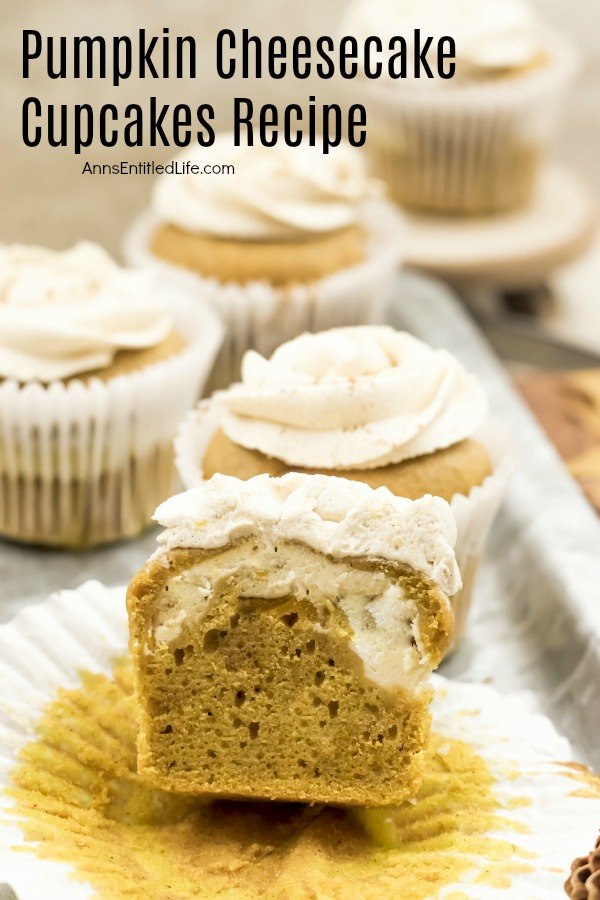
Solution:
M 303 334 L 270 359 L 249 351 L 219 395 L 235 443 L 290 466 L 368 469 L 471 436 L 487 413 L 477 380 L 446 350 L 389 326 Z

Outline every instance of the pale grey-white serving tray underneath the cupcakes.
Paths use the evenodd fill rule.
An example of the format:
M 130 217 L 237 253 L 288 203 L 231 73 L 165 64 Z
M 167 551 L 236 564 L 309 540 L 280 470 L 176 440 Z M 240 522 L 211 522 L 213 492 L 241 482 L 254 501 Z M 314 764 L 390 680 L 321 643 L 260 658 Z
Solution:
M 517 446 L 518 468 L 480 569 L 467 638 L 443 674 L 526 692 L 600 769 L 600 522 L 452 293 L 402 274 L 390 322 L 456 353 Z M 89 553 L 0 544 L 0 618 L 59 588 L 124 584 L 154 533 Z

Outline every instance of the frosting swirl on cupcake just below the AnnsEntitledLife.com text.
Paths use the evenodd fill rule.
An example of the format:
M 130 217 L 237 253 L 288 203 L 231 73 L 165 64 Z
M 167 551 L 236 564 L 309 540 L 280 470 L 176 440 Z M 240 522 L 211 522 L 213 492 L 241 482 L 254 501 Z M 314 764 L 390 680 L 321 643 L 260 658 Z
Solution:
M 207 174 L 215 162 L 233 173 Z M 301 240 L 355 224 L 360 204 L 378 192 L 361 155 L 349 146 L 324 156 L 316 147 L 235 147 L 229 132 L 175 163 L 197 173 L 165 174 L 153 207 L 184 231 L 233 240 Z

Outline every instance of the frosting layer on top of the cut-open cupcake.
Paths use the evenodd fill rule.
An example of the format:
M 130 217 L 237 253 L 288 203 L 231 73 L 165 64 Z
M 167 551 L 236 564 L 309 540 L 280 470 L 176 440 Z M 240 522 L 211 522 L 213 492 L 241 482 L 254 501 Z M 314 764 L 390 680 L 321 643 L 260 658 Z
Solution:
M 449 505 L 429 495 L 396 497 L 387 488 L 331 475 L 292 472 L 241 481 L 213 475 L 162 503 L 161 556 L 175 547 L 215 549 L 260 534 L 297 541 L 334 558 L 370 556 L 410 565 L 447 594 L 460 588 L 456 523 Z

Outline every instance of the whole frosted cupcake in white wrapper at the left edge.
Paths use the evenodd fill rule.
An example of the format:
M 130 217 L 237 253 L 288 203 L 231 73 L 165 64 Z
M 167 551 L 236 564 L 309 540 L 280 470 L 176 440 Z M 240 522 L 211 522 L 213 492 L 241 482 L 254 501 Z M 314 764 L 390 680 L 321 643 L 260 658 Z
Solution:
M 221 331 L 93 244 L 0 248 L 0 534 L 79 548 L 149 524 Z

